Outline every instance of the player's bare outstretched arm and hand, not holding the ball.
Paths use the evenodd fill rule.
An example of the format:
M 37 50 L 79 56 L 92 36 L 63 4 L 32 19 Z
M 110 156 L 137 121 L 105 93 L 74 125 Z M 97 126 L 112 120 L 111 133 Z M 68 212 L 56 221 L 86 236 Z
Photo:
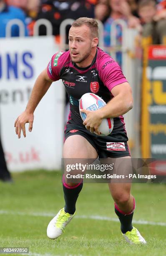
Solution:
M 25 123 L 29 123 L 28 130 L 30 132 L 32 131 L 34 119 L 33 113 L 35 108 L 45 93 L 48 91 L 52 82 L 53 80 L 48 77 L 47 69 L 43 70 L 43 72 L 41 72 L 41 74 L 36 79 L 25 111 L 15 120 L 15 132 L 18 135 L 18 138 L 20 138 L 21 130 L 23 131 L 24 137 L 26 137 Z

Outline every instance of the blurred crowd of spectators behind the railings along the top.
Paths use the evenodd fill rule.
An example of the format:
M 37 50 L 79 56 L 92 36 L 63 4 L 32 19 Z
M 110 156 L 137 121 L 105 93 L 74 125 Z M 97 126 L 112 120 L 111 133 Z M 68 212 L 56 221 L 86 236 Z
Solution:
M 111 45 L 111 24 L 122 19 L 129 28 L 136 28 L 152 43 L 166 42 L 166 0 L 0 0 L 0 37 L 5 37 L 9 20 L 20 19 L 25 26 L 25 36 L 33 35 L 36 20 L 44 18 L 53 26 L 53 35 L 59 35 L 60 23 L 67 19 L 92 17 L 104 25 L 104 44 Z M 116 41 L 121 45 L 121 26 L 117 26 Z M 40 26 L 39 35 L 45 35 Z M 12 27 L 12 36 L 19 36 L 18 26 Z

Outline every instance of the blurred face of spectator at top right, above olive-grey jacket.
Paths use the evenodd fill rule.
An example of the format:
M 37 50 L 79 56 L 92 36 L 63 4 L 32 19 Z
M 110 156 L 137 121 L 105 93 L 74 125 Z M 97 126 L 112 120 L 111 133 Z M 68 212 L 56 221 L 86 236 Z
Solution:
M 156 8 L 152 5 L 141 7 L 139 10 L 139 15 L 145 23 L 150 23 L 155 14 Z

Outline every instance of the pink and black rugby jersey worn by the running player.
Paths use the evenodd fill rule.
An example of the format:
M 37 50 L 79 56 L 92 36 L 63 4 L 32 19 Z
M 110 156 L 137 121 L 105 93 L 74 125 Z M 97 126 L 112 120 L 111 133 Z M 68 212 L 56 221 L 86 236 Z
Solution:
M 127 82 L 118 63 L 98 47 L 89 67 L 78 67 L 72 62 L 69 51 L 60 51 L 53 55 L 47 72 L 53 81 L 62 79 L 70 101 L 68 122 L 77 125 L 83 125 L 79 112 L 79 100 L 83 94 L 93 92 L 107 103 L 113 97 L 112 88 Z M 114 118 L 113 131 L 124 129 L 123 117 Z

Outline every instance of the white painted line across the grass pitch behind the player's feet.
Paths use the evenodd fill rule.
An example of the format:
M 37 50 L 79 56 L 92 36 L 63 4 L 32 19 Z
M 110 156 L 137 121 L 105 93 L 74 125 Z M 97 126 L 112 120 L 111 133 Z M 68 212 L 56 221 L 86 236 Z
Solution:
M 23 215 L 23 216 L 40 216 L 40 217 L 54 217 L 55 214 L 47 213 L 47 212 L 12 212 L 6 210 L 0 210 L 0 214 L 8 214 L 8 215 Z M 110 218 L 106 216 L 98 216 L 98 215 L 78 215 L 75 216 L 77 219 L 91 219 L 91 220 L 108 220 L 113 222 L 119 222 L 118 218 Z M 147 220 L 133 220 L 133 223 L 142 224 L 142 225 L 154 225 L 154 226 L 166 226 L 165 222 L 153 222 Z

